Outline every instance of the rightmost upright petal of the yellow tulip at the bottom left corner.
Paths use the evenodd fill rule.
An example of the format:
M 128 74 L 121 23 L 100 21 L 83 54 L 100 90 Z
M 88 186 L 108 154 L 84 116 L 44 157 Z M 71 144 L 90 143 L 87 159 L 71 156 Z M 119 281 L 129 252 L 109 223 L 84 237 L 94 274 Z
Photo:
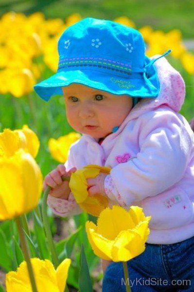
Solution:
M 61 264 L 56 269 L 56 279 L 60 292 L 64 292 L 65 290 L 70 265 L 71 259 L 66 258 L 61 262 Z

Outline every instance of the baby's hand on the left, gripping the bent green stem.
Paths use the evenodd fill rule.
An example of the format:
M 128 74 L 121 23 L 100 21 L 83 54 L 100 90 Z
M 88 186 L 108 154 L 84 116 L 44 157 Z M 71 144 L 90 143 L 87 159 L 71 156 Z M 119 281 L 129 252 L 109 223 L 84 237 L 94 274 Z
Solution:
M 67 200 L 71 189 L 69 187 L 69 182 L 62 181 L 62 176 L 71 176 L 71 173 L 75 172 L 76 168 L 71 168 L 68 172 L 64 164 L 59 164 L 54 170 L 52 170 L 44 179 L 43 189 L 45 190 L 47 186 L 51 187 L 49 195 Z

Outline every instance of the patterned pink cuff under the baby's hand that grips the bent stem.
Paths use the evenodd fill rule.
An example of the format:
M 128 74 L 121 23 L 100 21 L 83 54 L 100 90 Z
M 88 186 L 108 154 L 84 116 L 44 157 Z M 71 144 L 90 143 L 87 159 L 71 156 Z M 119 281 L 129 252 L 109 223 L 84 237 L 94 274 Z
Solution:
M 77 202 L 75 201 L 72 193 L 70 193 L 68 200 L 54 198 L 49 195 L 47 199 L 47 204 L 52 209 L 54 214 L 61 217 L 71 216 L 80 213 L 77 208 Z

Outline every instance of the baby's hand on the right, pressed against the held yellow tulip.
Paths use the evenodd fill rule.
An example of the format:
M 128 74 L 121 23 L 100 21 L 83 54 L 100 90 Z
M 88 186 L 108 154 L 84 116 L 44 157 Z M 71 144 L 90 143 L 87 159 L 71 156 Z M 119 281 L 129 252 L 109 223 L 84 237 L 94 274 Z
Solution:
M 93 196 L 95 194 L 100 194 L 102 196 L 106 196 L 105 192 L 105 178 L 106 173 L 99 173 L 95 178 L 88 179 L 88 193 L 89 196 Z

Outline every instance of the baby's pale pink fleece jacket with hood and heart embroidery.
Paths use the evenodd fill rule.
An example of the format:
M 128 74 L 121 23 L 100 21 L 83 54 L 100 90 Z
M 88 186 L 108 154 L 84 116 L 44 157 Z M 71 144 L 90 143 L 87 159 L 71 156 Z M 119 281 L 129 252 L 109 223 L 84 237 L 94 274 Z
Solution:
M 106 180 L 111 204 L 141 206 L 152 216 L 147 242 L 170 244 L 194 236 L 194 133 L 177 113 L 185 96 L 182 77 L 165 58 L 155 65 L 159 96 L 141 99 L 101 145 L 83 135 L 65 165 L 111 167 Z M 59 216 L 80 212 L 72 194 L 68 201 L 49 196 L 48 203 Z

